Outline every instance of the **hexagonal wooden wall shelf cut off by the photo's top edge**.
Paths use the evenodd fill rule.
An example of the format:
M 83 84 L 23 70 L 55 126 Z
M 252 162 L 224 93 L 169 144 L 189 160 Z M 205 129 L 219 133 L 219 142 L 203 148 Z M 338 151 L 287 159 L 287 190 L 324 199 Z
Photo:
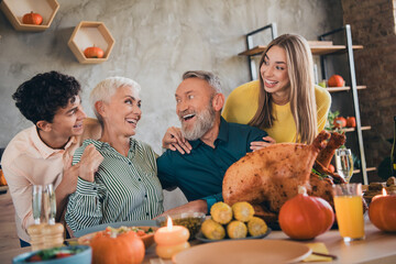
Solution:
M 54 20 L 59 3 L 56 0 L 3 0 L 0 3 L 0 9 L 18 31 L 45 31 Z M 41 25 L 22 22 L 23 15 L 32 11 L 43 16 Z

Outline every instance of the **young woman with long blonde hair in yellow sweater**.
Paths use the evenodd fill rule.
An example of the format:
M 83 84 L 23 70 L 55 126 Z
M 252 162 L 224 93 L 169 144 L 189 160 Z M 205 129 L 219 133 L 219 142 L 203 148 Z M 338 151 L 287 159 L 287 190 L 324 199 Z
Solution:
M 260 61 L 260 80 L 235 88 L 222 116 L 228 122 L 265 130 L 267 142 L 253 142 L 257 150 L 282 142 L 311 143 L 323 130 L 330 94 L 314 85 L 312 55 L 307 41 L 284 34 L 270 43 Z

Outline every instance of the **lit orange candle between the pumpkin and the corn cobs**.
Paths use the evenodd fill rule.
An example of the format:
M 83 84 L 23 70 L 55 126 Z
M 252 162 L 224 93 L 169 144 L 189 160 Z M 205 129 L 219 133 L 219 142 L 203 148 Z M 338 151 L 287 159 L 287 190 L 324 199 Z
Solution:
M 188 249 L 189 231 L 182 226 L 173 226 L 172 219 L 168 217 L 167 226 L 158 229 L 154 234 L 155 251 L 162 258 L 170 258 L 176 253 Z

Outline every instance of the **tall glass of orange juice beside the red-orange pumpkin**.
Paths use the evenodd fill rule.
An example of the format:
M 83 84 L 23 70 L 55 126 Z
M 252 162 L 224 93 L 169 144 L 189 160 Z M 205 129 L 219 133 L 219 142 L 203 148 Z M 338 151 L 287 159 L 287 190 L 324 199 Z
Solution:
M 364 239 L 362 184 L 333 185 L 336 216 L 344 242 Z

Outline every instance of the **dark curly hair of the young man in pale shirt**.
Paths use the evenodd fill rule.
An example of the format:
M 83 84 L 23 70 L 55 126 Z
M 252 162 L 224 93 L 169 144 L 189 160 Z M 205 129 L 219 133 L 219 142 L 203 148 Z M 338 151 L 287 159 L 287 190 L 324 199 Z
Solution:
M 38 121 L 53 122 L 59 108 L 74 102 L 81 90 L 80 84 L 72 76 L 57 72 L 37 74 L 18 87 L 12 99 L 21 113 L 34 124 Z

